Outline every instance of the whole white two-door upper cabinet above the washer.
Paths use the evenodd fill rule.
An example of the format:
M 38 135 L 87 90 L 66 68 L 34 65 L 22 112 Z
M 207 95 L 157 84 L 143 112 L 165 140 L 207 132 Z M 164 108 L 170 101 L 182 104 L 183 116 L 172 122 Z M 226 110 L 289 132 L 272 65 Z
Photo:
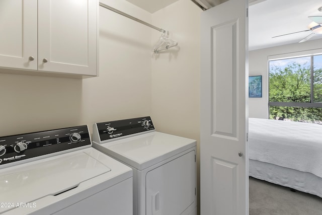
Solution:
M 97 13 L 96 0 L 1 0 L 0 67 L 96 76 Z

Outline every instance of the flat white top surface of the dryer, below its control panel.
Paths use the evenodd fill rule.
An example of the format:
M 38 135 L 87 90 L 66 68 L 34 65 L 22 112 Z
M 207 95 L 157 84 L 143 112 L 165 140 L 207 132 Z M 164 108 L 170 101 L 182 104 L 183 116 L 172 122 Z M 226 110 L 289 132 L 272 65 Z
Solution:
M 196 140 L 153 131 L 138 136 L 94 144 L 95 148 L 143 170 L 196 146 Z

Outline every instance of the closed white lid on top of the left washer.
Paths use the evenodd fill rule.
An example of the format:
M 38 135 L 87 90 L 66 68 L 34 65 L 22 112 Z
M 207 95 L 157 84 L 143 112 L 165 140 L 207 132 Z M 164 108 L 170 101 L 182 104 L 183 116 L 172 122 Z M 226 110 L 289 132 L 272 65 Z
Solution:
M 68 153 L 3 169 L 0 174 L 0 202 L 32 202 L 57 195 L 79 183 L 111 171 L 84 152 Z M 3 210 L 10 208 L 0 208 Z

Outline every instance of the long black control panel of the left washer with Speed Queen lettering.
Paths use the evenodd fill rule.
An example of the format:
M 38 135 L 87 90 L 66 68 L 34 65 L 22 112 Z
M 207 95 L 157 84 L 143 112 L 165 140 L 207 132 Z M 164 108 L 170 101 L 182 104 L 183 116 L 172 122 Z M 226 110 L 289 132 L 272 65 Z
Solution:
M 0 137 L 0 165 L 91 146 L 87 125 Z

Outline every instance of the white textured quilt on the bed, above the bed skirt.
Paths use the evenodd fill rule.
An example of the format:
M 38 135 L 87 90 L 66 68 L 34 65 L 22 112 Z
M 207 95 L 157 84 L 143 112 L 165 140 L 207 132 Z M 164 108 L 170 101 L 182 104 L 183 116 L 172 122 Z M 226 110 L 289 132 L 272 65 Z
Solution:
M 322 125 L 249 118 L 249 159 L 322 177 Z

